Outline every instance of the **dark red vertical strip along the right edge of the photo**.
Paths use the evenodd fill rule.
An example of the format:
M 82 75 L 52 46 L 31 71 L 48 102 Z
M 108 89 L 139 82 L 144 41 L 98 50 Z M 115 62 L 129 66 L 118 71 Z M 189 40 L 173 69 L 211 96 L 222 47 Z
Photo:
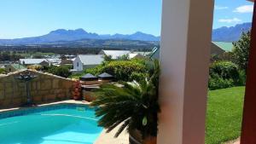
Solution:
M 256 4 L 254 4 L 251 48 L 247 66 L 241 144 L 256 144 Z

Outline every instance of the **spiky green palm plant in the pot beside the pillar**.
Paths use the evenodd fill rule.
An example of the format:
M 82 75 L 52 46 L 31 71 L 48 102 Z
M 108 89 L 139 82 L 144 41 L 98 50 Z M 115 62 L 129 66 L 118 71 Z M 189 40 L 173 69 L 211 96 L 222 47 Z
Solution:
M 137 82 L 125 83 L 123 87 L 103 84 L 95 91 L 96 101 L 91 103 L 96 109 L 96 116 L 101 117 L 99 126 L 110 132 L 120 125 L 115 137 L 123 130 L 139 130 L 143 140 L 157 135 L 158 84 L 160 66 L 157 60 L 149 71 L 148 78 Z

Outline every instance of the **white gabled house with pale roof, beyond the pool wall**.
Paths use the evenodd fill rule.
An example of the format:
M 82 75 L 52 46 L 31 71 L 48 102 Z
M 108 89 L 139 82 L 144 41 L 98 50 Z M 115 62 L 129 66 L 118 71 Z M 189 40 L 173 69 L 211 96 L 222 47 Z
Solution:
M 102 64 L 104 61 L 103 55 L 78 55 L 73 60 L 73 70 L 81 72 L 84 69 L 92 68 Z

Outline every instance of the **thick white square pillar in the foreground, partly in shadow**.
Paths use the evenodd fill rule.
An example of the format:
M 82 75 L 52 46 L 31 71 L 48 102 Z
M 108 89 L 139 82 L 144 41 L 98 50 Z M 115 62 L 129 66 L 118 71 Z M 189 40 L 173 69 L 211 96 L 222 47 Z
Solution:
M 158 144 L 205 143 L 213 0 L 163 0 Z

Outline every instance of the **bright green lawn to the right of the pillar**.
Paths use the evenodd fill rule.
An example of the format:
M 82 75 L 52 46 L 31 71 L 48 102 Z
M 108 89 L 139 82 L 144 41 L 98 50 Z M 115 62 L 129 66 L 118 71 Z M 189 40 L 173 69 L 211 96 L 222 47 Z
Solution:
M 241 134 L 245 87 L 209 91 L 206 144 L 234 140 Z

